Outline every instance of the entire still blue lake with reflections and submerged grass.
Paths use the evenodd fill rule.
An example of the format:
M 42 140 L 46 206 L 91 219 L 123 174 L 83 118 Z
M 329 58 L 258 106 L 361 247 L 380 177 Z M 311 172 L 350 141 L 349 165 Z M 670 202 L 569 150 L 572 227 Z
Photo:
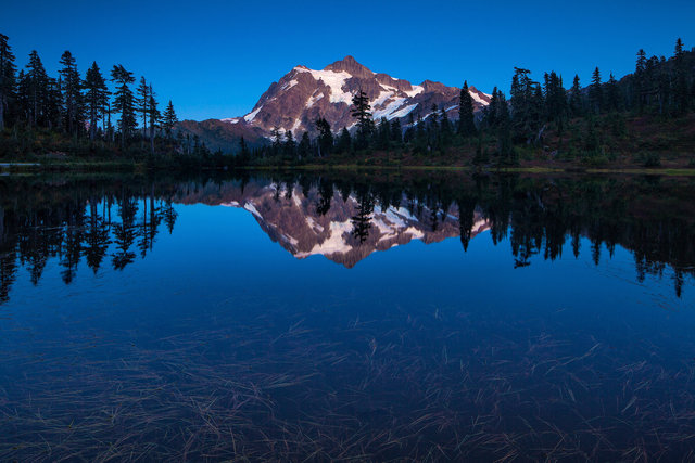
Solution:
M 692 459 L 694 190 L 3 179 L 0 459 Z

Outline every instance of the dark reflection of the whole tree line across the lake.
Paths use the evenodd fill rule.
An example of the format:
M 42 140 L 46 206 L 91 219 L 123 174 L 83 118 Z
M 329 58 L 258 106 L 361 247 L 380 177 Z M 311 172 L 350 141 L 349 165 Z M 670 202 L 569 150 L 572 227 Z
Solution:
M 686 280 L 695 274 L 693 182 L 453 173 L 323 172 L 312 178 L 306 172 L 271 172 L 273 178 L 256 180 L 249 180 L 245 171 L 239 176 L 240 183 L 233 183 L 237 190 L 249 182 L 273 183 L 278 185 L 278 201 L 281 194 L 290 197 L 299 185 L 304 197 L 315 198 L 319 216 L 333 206 L 337 214 L 344 214 L 342 208 L 354 194 L 357 207 L 351 217 L 352 236 L 358 243 L 369 239 L 376 205 L 382 210 L 392 205 L 407 208 L 424 229 L 434 233 L 447 230 L 450 217 L 458 215 L 464 249 L 476 218 L 484 219 L 493 243 L 508 240 L 516 267 L 532 265 L 538 258 L 556 259 L 564 249 L 571 249 L 576 257 L 584 252 L 598 263 L 620 245 L 632 252 L 640 281 L 668 272 L 680 295 Z M 188 178 L 160 182 L 132 177 L 125 181 L 61 180 L 55 184 L 3 179 L 0 298 L 7 300 L 20 266 L 34 284 L 50 259 L 56 260 L 65 283 L 76 278 L 81 258 L 94 273 L 106 255 L 114 268 L 124 269 L 138 254 L 146 257 L 153 249 L 160 227 L 173 232 L 177 213 L 170 198 L 205 188 L 219 194 L 230 184 L 220 179 L 198 182 Z M 584 246 L 582 239 L 587 241 Z

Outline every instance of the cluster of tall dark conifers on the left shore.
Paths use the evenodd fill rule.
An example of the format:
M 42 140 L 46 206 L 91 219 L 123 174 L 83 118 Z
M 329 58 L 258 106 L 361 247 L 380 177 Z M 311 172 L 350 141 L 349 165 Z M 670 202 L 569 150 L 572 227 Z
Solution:
M 134 73 L 122 64 L 104 73 L 93 62 L 81 74 L 67 50 L 59 63 L 58 76 L 49 76 L 34 50 L 18 68 L 9 38 L 0 34 L 0 132 L 5 134 L 0 155 L 30 149 L 41 132 L 121 152 L 185 149 L 173 138 L 174 105 L 169 100 L 160 107 L 151 81 L 140 77 L 136 86 Z

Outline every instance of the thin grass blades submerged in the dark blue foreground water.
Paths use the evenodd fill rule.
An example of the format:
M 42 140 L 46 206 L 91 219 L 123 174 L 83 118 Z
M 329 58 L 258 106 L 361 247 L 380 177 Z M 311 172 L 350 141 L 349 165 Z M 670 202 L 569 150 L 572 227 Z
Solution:
M 560 314 L 236 298 L 206 317 L 135 339 L 3 329 L 0 460 L 695 456 L 692 362 L 616 349 Z

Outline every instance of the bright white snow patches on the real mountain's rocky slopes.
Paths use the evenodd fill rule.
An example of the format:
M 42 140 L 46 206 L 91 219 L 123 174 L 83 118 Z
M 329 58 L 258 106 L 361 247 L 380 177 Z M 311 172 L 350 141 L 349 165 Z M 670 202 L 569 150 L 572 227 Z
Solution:
M 321 99 L 328 99 L 331 104 L 344 104 L 350 106 L 352 104 L 353 92 L 346 89 L 346 81 L 351 79 L 353 76 L 345 70 L 331 70 L 331 69 L 309 69 L 305 66 L 295 66 L 286 77 L 283 77 L 280 81 L 285 81 L 285 83 L 280 87 L 280 92 L 289 92 L 298 85 L 298 81 L 294 79 L 299 74 L 307 73 L 314 78 L 317 82 L 317 89 L 313 94 L 306 98 L 306 102 L 304 104 L 304 110 L 309 110 Z M 376 73 L 372 73 L 376 76 Z M 391 77 L 394 81 L 399 81 L 399 79 Z M 324 86 L 319 86 L 319 82 L 323 82 Z M 327 87 L 327 88 L 326 88 Z M 412 90 L 403 91 L 399 90 L 395 87 L 384 85 L 379 82 L 379 87 L 381 92 L 376 97 L 370 99 L 369 104 L 371 106 L 372 117 L 375 120 L 379 120 L 381 118 L 386 118 L 387 120 L 391 120 L 393 118 L 402 118 L 406 117 L 409 113 L 412 113 L 416 107 L 418 107 L 419 103 L 414 103 L 413 99 L 418 94 L 425 91 L 422 86 L 413 85 Z M 481 94 L 486 97 L 488 99 L 491 95 L 486 93 L 478 93 L 476 91 L 469 90 L 469 93 L 473 100 L 473 102 L 479 103 L 482 106 L 486 106 L 488 101 L 481 98 Z M 267 101 L 273 101 L 277 98 L 271 97 Z M 266 102 L 267 102 L 266 101 Z M 263 110 L 264 104 L 258 103 L 256 107 L 249 114 L 243 117 L 230 117 L 220 119 L 222 121 L 229 124 L 238 124 L 243 120 L 247 124 L 253 124 L 254 119 L 258 115 L 258 113 Z M 447 107 L 446 111 L 452 111 L 457 105 Z M 424 117 L 429 115 L 430 108 L 422 108 L 425 111 Z M 293 120 L 292 127 L 290 130 L 296 130 L 301 127 L 301 117 L 295 118 Z

